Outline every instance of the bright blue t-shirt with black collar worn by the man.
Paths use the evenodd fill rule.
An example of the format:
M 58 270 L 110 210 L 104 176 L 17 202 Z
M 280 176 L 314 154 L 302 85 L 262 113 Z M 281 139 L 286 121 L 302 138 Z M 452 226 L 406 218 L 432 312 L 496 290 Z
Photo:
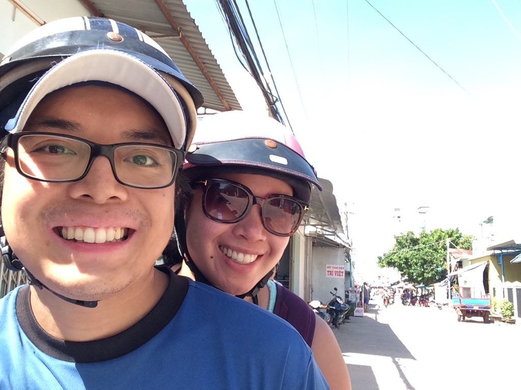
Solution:
M 157 305 L 107 339 L 67 342 L 36 322 L 23 286 L 0 300 L 0 389 L 328 389 L 285 321 L 170 275 Z

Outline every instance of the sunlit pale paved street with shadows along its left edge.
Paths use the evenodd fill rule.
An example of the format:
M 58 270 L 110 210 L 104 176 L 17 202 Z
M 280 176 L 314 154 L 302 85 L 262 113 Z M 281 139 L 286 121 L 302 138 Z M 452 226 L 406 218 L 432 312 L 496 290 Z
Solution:
M 333 330 L 353 389 L 521 387 L 521 325 L 457 322 L 449 308 L 378 303 Z

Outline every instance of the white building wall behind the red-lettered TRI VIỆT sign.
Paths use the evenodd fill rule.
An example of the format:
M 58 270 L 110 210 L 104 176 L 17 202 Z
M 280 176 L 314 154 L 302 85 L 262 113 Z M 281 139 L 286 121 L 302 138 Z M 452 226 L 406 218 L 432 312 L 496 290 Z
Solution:
M 313 246 L 312 265 L 311 265 L 311 300 L 329 302 L 331 299 L 330 291 L 338 289 L 338 295 L 344 298 L 345 276 L 342 278 L 327 277 L 326 265 L 338 265 L 344 268 L 344 249 L 326 248 Z

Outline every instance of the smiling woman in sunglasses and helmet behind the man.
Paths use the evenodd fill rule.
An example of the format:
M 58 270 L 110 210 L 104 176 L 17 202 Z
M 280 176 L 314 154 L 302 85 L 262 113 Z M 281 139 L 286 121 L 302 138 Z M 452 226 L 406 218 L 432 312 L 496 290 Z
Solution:
M 330 387 L 351 388 L 328 324 L 269 280 L 307 210 L 312 185 L 321 189 L 293 134 L 267 116 L 208 115 L 197 125 L 182 174 L 193 190 L 184 219 L 176 216 L 184 252 L 179 274 L 286 319 L 312 348 Z

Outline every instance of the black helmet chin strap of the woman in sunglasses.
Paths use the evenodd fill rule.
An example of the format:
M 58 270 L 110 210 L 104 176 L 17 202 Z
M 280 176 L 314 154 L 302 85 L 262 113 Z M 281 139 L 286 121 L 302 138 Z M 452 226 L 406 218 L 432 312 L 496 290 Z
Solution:
M 197 267 L 197 265 L 192 260 L 190 253 L 188 253 L 186 225 L 184 223 L 184 217 L 181 215 L 181 213 L 176 213 L 174 226 L 176 228 L 176 236 L 177 236 L 179 251 L 180 251 L 180 253 L 184 253 L 184 261 L 188 265 L 188 268 L 190 268 L 190 270 L 194 274 L 195 280 L 198 282 L 204 283 L 204 284 L 211 285 L 212 287 L 216 288 L 217 290 L 224 291 L 224 290 L 221 290 L 218 287 L 216 287 L 212 282 L 210 282 L 208 280 L 208 278 L 206 278 L 206 276 L 203 275 L 203 272 L 201 272 L 199 267 Z M 264 278 L 259 280 L 257 282 L 257 284 L 255 284 L 250 291 L 248 291 L 244 294 L 235 295 L 235 296 L 237 296 L 238 298 L 241 298 L 241 299 L 244 299 L 246 296 L 251 296 L 253 303 L 255 305 L 258 305 L 257 294 L 266 285 L 266 283 L 268 282 L 271 275 L 273 275 L 272 269 L 270 269 L 269 272 L 264 276 Z M 226 292 L 226 291 L 224 291 L 224 292 Z

